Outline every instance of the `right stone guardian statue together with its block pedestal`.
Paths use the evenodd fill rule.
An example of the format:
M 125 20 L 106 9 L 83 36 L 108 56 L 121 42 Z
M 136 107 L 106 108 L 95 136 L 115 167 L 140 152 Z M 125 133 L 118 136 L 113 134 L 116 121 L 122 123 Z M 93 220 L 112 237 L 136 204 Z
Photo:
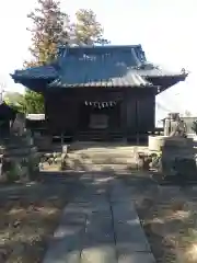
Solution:
M 194 141 L 186 136 L 186 125 L 178 114 L 165 119 L 164 136 L 149 137 L 149 151 L 160 155 L 159 171 L 164 178 L 197 180 Z

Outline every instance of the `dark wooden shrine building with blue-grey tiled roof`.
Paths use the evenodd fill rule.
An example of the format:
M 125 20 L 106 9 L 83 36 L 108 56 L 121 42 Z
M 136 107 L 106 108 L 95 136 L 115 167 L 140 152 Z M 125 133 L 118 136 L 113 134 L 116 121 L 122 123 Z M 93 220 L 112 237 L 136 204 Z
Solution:
M 50 65 L 15 70 L 43 93 L 49 134 L 131 140 L 154 130 L 155 95 L 187 77 L 148 62 L 141 45 L 61 47 Z

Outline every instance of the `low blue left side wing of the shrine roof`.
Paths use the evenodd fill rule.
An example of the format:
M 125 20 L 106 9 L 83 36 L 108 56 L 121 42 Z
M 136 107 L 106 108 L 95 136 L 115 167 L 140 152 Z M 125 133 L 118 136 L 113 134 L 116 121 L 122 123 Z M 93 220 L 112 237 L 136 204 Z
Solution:
M 23 70 L 15 70 L 13 79 L 56 79 L 58 71 L 53 66 L 32 67 Z

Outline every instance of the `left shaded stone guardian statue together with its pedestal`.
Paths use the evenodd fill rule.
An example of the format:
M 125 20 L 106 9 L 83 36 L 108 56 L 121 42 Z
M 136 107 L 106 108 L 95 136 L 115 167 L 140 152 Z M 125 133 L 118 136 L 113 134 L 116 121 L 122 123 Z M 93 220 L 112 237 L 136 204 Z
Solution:
M 18 114 L 9 138 L 1 142 L 1 179 L 10 182 L 26 182 L 36 179 L 39 171 L 39 156 L 31 133 L 25 129 L 25 117 Z

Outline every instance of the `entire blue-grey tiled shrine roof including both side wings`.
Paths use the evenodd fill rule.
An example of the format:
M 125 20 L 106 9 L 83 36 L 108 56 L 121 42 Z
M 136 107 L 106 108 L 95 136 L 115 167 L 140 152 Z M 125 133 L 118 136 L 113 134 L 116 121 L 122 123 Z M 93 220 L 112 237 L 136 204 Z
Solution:
M 144 87 L 152 77 L 186 77 L 185 72 L 170 72 L 148 64 L 141 45 L 61 47 L 56 66 L 40 66 L 16 70 L 16 82 L 45 79 L 49 87 Z M 146 80 L 147 79 L 147 80 Z M 28 85 L 31 85 L 28 83 Z

